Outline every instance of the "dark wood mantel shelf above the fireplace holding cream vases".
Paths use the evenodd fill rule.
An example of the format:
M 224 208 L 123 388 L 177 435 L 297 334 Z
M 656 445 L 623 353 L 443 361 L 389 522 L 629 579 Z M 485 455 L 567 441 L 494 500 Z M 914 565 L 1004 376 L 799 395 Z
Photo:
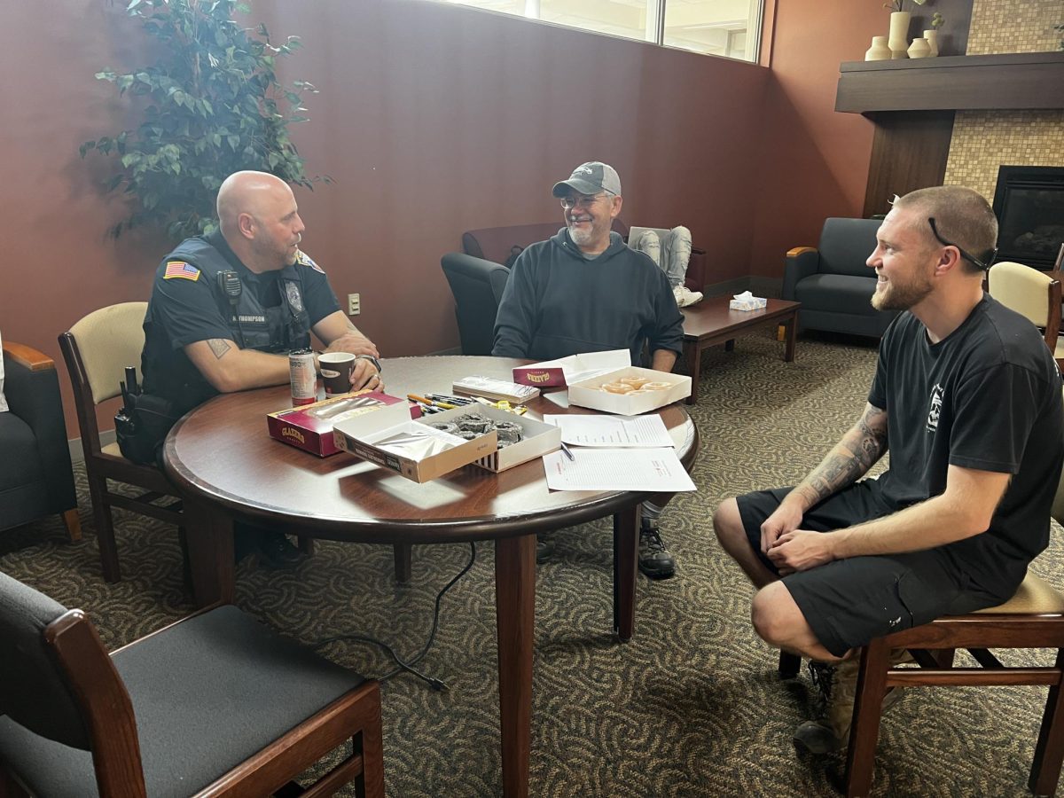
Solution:
M 1064 109 L 1064 52 L 855 61 L 839 66 L 835 111 Z

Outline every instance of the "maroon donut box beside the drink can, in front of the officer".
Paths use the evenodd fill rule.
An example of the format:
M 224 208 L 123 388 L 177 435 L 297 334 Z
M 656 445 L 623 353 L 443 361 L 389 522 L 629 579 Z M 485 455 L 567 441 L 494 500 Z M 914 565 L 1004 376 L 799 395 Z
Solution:
M 388 396 L 379 390 L 356 390 L 346 396 L 336 396 L 313 404 L 268 413 L 266 427 L 270 437 L 283 440 L 297 449 L 303 449 L 319 458 L 328 458 L 339 451 L 333 442 L 332 428 L 337 421 L 371 413 L 381 408 L 402 404 L 410 406 L 405 399 Z M 421 415 L 419 408 L 412 406 L 410 416 Z

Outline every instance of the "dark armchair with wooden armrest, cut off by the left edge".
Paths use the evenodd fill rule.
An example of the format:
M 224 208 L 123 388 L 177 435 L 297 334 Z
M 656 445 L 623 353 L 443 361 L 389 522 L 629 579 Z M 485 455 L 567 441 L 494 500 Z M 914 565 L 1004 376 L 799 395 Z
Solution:
M 62 514 L 77 541 L 81 523 L 55 363 L 5 340 L 3 366 L 11 412 L 0 413 L 0 531 Z

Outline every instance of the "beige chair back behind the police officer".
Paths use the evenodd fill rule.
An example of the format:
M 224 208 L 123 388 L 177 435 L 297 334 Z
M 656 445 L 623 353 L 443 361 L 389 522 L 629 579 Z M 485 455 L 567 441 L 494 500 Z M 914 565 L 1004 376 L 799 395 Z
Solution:
M 70 328 L 85 366 L 93 404 L 118 396 L 126 367 L 133 366 L 140 381 L 144 316 L 147 302 L 122 302 L 93 311 Z

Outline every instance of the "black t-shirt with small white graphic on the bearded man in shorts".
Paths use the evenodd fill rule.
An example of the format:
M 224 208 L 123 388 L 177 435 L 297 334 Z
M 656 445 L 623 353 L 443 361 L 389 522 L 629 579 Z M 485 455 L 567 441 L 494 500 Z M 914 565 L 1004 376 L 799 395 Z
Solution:
M 945 547 L 975 585 L 1011 597 L 1049 543 L 1064 460 L 1061 378 L 1037 329 L 984 296 L 931 344 L 903 313 L 880 343 L 868 401 L 887 412 L 880 485 L 895 509 L 943 494 L 950 465 L 1014 475 L 990 529 Z

